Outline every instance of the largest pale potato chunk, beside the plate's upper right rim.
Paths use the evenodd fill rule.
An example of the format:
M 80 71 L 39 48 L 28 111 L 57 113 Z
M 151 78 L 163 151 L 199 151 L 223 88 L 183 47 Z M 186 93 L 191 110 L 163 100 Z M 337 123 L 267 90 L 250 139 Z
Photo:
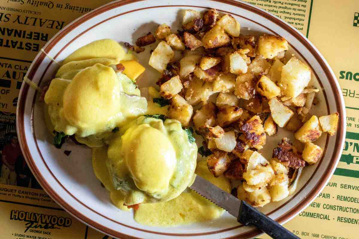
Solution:
M 297 97 L 311 80 L 311 69 L 292 57 L 282 67 L 281 79 L 278 83 L 284 96 Z

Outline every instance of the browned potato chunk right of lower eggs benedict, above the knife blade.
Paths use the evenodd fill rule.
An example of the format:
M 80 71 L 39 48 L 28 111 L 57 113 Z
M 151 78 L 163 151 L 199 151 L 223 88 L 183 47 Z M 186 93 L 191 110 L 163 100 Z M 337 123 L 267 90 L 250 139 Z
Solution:
M 207 167 L 209 171 L 215 176 L 222 175 L 230 165 L 230 158 L 228 154 L 223 151 L 215 151 L 207 158 Z

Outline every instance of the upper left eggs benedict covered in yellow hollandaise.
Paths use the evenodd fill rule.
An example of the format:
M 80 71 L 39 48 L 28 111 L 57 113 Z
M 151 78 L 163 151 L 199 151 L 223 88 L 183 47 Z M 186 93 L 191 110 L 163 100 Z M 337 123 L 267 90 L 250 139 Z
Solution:
M 114 70 L 123 59 L 129 67 L 139 65 L 130 58 L 111 39 L 92 42 L 70 54 L 45 94 L 45 118 L 53 126 L 49 128 L 75 135 L 78 142 L 89 147 L 102 147 L 111 130 L 144 115 L 147 101 L 140 96 L 137 85 Z M 132 76 L 138 77 L 143 71 L 140 68 Z

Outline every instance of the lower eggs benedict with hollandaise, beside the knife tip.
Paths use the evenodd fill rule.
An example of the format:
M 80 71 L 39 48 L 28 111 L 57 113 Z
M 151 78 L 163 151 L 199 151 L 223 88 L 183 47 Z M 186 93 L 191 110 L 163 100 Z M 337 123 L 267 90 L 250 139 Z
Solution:
M 177 120 L 141 116 L 123 127 L 109 143 L 107 167 L 124 203 L 168 201 L 194 177 L 197 145 Z

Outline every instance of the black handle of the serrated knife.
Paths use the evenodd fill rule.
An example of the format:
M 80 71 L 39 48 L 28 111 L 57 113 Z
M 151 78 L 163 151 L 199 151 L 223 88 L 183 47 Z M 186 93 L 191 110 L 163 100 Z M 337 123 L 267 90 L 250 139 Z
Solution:
M 298 236 L 294 235 L 245 201 L 242 201 L 242 205 L 239 208 L 237 220 L 243 225 L 255 226 L 274 239 L 300 239 Z

